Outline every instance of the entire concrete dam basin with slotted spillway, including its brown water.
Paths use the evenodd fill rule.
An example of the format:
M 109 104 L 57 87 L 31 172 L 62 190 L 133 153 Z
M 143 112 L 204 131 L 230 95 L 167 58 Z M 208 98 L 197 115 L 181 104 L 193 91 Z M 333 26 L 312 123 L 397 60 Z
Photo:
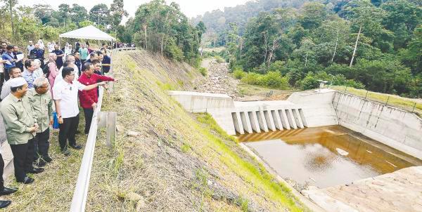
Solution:
M 371 211 L 373 201 L 362 204 L 367 195 L 387 199 L 375 211 L 397 211 L 389 204 L 402 202 L 399 208 L 409 208 L 408 198 L 393 190 L 422 192 L 421 180 L 416 180 L 420 186 L 409 180 L 422 177 L 422 119 L 411 112 L 328 88 L 293 93 L 287 100 L 251 102 L 215 93 L 169 95 L 188 112 L 211 114 L 247 152 L 279 179 L 293 181 L 293 188 L 323 211 Z M 370 186 L 385 185 L 391 176 L 409 183 Z M 354 188 L 350 183 L 362 190 L 362 199 L 345 191 Z

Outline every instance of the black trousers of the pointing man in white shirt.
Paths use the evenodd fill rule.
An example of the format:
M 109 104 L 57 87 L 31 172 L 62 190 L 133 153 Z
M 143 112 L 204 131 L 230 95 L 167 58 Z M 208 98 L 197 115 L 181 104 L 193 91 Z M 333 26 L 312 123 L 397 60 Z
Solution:
M 69 145 L 76 145 L 76 131 L 77 126 L 79 125 L 79 114 L 76 117 L 69 117 L 63 119 L 63 124 L 59 124 L 58 128 L 58 143 L 60 145 L 60 150 L 68 150 L 68 140 Z

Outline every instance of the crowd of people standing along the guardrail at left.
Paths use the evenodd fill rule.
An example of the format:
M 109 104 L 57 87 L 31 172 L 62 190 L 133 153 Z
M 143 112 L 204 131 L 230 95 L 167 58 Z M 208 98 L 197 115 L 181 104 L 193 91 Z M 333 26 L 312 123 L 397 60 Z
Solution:
M 32 41 L 28 46 L 31 45 Z M 85 52 L 85 44 L 82 44 L 78 51 L 64 55 L 57 52 L 60 49 L 55 44 L 55 50 L 48 54 L 44 66 L 44 49 L 40 46 L 38 42 L 34 48 L 28 48 L 30 56 L 25 59 L 23 56 L 16 57 L 23 54 L 16 46 L 6 44 L 0 60 L 0 64 L 4 64 L 4 69 L 0 69 L 7 74 L 0 80 L 3 83 L 0 112 L 13 153 L 16 181 L 24 184 L 34 182 L 27 173 L 41 173 L 46 164 L 53 161 L 49 156 L 53 113 L 56 112 L 59 125 L 60 150 L 67 157 L 70 155 L 69 147 L 82 149 L 75 138 L 79 125 L 78 98 L 84 110 L 84 133 L 87 134 L 98 102 L 97 87 L 105 86 L 107 81 L 115 81 L 105 75 L 110 71 L 111 60 L 104 46 L 100 51 L 88 53 Z M 37 55 L 38 51 L 40 55 Z M 64 62 L 59 62 L 59 56 L 65 58 Z M 37 59 L 41 59 L 40 62 Z M 18 62 L 23 63 L 22 68 Z M 3 170 L 0 154 L 0 196 L 16 192 L 14 188 L 4 187 Z M 9 204 L 11 201 L 0 201 L 0 208 Z

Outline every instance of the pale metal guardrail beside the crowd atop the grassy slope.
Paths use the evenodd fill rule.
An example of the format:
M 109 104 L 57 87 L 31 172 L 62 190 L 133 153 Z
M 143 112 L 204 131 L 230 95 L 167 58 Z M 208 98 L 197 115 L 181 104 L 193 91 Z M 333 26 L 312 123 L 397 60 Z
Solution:
M 115 53 L 116 51 L 128 51 L 128 50 L 135 50 L 135 49 L 136 48 L 115 48 L 113 49 L 112 53 Z M 110 63 L 110 76 L 113 76 L 113 57 Z M 110 90 L 113 91 L 113 84 L 110 84 Z M 87 204 L 88 190 L 89 190 L 89 180 L 91 178 L 92 162 L 94 159 L 96 135 L 97 135 L 97 130 L 99 126 L 98 121 L 101 119 L 101 117 L 108 117 L 108 119 L 110 119 L 111 117 L 111 118 L 114 118 L 115 120 L 115 112 L 111 112 L 110 113 L 111 115 L 106 115 L 106 116 L 101 114 L 102 113 L 101 105 L 103 103 L 103 93 L 104 93 L 104 89 L 100 87 L 99 93 L 98 93 L 98 103 L 96 106 L 96 110 L 94 110 L 94 115 L 92 117 L 91 128 L 89 128 L 89 134 L 87 138 L 87 145 L 85 146 L 84 156 L 82 157 L 82 164 L 79 168 L 79 174 L 77 176 L 75 192 L 73 192 L 72 204 L 70 205 L 70 211 L 72 212 L 85 211 L 85 206 Z M 101 120 L 100 122 L 104 122 L 104 121 Z M 110 129 L 109 126 L 113 126 L 113 124 L 107 124 L 107 131 L 113 131 L 113 129 Z M 107 136 L 108 145 L 110 145 L 110 139 L 113 138 L 112 137 L 113 135 L 115 136 L 115 123 L 114 123 L 114 134 L 110 133 Z

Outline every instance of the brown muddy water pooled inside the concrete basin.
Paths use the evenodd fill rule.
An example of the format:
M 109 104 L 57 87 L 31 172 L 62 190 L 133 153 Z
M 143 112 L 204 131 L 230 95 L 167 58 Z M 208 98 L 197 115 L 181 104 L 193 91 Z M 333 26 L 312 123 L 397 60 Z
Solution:
M 238 135 L 283 178 L 330 187 L 390 173 L 422 161 L 342 126 Z

